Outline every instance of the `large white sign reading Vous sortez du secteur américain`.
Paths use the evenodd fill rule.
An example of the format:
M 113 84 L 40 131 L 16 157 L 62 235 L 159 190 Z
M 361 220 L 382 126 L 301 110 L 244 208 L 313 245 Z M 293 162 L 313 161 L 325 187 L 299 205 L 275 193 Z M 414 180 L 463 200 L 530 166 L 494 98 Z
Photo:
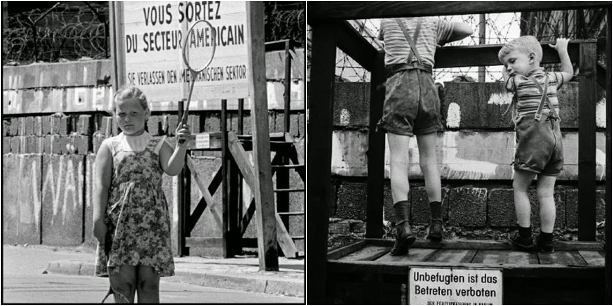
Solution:
M 192 102 L 248 97 L 245 2 L 126 1 L 118 2 L 116 12 L 120 80 L 142 89 L 149 102 L 188 98 L 191 80 L 181 52 L 189 27 L 198 20 L 216 29 L 216 50 L 196 78 Z

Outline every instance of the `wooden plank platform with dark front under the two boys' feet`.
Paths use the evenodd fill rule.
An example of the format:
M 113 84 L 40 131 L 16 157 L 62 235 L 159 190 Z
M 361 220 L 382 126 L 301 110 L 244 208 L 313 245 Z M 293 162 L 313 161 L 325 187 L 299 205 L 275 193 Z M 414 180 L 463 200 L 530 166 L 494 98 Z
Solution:
M 517 250 L 506 241 L 416 241 L 391 256 L 394 241 L 366 239 L 328 253 L 330 304 L 403 304 L 409 267 L 503 270 L 504 304 L 584 304 L 604 297 L 604 247 L 555 242 L 555 252 Z

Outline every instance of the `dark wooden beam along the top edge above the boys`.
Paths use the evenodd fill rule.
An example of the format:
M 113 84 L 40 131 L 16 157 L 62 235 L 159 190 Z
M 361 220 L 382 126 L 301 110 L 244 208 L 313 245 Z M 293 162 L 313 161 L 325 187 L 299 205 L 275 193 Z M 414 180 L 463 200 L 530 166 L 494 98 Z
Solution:
M 482 13 L 573 10 L 611 7 L 610 1 L 311 1 L 309 23 L 316 19 L 367 19 Z

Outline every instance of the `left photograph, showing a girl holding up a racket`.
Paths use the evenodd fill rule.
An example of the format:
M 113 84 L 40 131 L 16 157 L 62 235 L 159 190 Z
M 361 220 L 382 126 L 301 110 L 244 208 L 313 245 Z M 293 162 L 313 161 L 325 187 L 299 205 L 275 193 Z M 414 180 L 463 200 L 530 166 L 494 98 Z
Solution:
M 2 304 L 306 304 L 306 1 L 2 1 Z

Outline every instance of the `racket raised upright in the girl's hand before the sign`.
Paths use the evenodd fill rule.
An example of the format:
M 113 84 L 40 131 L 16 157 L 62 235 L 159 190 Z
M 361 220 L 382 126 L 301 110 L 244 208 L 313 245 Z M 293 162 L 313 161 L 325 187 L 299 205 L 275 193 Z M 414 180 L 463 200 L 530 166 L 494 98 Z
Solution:
M 183 112 L 181 124 L 188 121 L 189 102 L 194 91 L 194 83 L 198 73 L 206 69 L 213 61 L 216 47 L 215 28 L 206 20 L 199 20 L 189 28 L 188 35 L 183 43 L 183 62 L 191 73 L 191 86 L 189 86 L 188 104 Z M 179 140 L 183 143 L 185 140 Z

